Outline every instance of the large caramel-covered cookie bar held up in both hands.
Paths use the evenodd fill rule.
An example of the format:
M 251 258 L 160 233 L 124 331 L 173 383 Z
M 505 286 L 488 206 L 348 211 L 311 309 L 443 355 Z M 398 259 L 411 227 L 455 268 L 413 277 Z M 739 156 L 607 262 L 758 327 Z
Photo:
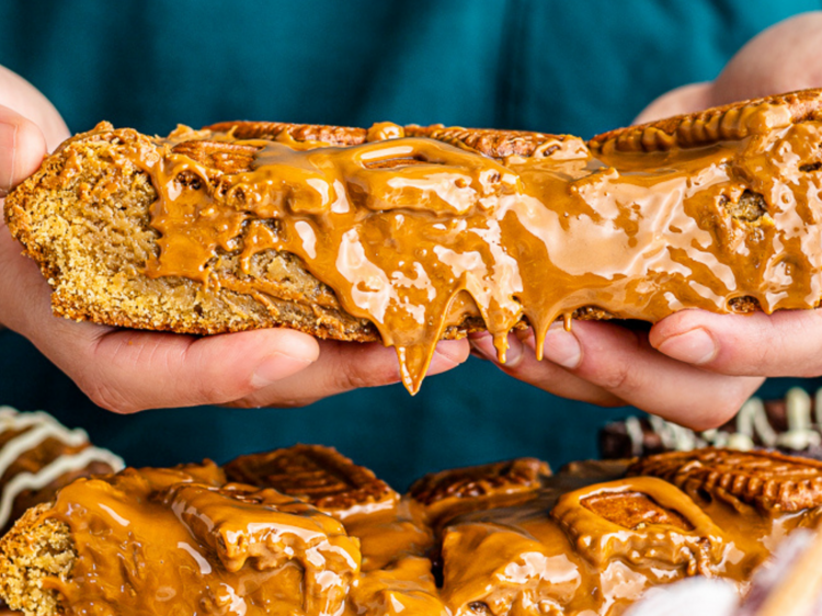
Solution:
M 101 124 L 5 203 L 55 312 L 189 333 L 285 326 L 397 349 L 558 318 L 813 308 L 819 90 L 591 141 L 463 127 Z

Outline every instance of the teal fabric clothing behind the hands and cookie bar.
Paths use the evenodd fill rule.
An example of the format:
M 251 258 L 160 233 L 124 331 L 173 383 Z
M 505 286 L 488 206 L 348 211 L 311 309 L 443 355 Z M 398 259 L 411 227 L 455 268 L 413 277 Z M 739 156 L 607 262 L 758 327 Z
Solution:
M 589 137 L 630 123 L 671 88 L 715 78 L 755 34 L 821 4 L 8 0 L 0 64 L 39 88 L 73 132 L 100 119 L 148 133 L 235 118 L 391 119 Z M 774 380 L 766 393 L 790 383 Z M 117 417 L 11 332 L 0 333 L 0 402 L 47 409 L 135 465 L 316 442 L 397 487 L 447 466 L 593 456 L 600 425 L 629 412 L 557 399 L 472 358 L 415 398 L 395 386 L 296 410 Z

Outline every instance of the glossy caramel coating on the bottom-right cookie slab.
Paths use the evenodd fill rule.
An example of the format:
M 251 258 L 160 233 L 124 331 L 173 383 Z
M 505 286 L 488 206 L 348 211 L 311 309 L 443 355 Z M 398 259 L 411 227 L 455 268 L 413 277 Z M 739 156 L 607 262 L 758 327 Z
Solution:
M 615 516 L 616 506 L 585 506 L 608 495 L 629 514 L 639 505 L 646 520 L 628 528 L 625 510 Z M 441 596 L 455 616 L 610 616 L 652 586 L 697 573 L 731 580 L 744 592 L 778 540 L 812 524 L 813 515 L 772 517 L 721 501 L 695 503 L 653 478 L 597 483 L 557 476 L 527 503 L 449 523 Z

